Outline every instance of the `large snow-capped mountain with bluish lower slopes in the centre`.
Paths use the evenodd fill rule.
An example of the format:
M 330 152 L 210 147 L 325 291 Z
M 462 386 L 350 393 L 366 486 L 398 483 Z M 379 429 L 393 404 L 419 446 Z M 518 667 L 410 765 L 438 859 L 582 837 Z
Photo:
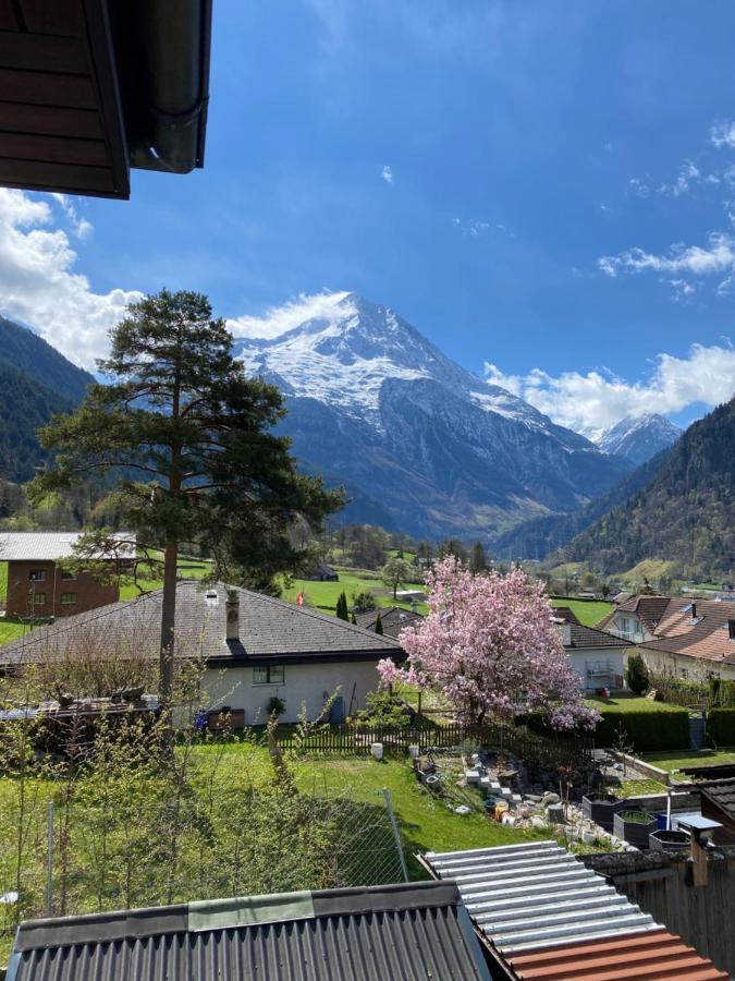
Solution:
M 350 520 L 491 541 L 574 510 L 626 470 L 355 293 L 275 329 L 231 327 L 247 372 L 286 395 L 282 428 L 305 469 L 345 485 Z

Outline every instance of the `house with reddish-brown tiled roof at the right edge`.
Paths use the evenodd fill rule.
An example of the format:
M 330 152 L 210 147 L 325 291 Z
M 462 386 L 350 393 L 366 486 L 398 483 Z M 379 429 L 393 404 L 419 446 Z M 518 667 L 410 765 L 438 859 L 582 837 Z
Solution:
M 634 596 L 597 627 L 636 644 L 657 675 L 735 679 L 735 602 Z

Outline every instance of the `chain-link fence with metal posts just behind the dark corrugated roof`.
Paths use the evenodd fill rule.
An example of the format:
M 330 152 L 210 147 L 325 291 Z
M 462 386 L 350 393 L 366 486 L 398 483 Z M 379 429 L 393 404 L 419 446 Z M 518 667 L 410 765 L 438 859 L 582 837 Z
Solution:
M 370 800 L 272 786 L 160 801 L 79 794 L 49 806 L 36 789 L 0 829 L 5 936 L 41 916 L 404 879 L 388 790 Z

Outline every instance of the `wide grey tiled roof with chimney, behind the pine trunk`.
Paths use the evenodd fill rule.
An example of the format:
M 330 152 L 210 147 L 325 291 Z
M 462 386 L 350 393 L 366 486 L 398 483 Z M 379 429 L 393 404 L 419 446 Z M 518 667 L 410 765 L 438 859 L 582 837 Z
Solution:
M 249 590 L 237 589 L 240 597 L 240 640 L 225 640 L 228 586 L 218 582 L 207 591 L 196 582 L 180 582 L 176 589 L 176 656 L 204 656 L 208 659 L 236 657 L 306 661 L 379 661 L 401 658 L 397 641 L 379 637 L 344 620 L 313 609 L 284 603 Z M 206 592 L 217 594 L 215 602 Z M 17 664 L 66 653 L 85 637 L 100 653 L 108 647 L 134 646 L 154 656 L 158 649 L 162 590 L 147 593 L 128 603 L 112 603 L 88 613 L 57 620 L 25 638 L 0 646 L 0 665 Z

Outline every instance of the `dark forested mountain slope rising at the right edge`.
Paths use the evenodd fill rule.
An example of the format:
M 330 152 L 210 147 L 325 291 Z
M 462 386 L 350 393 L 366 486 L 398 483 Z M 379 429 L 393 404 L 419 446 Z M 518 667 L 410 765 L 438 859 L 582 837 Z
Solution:
M 735 568 L 735 399 L 694 423 L 650 484 L 564 549 L 604 573 L 647 558 L 721 579 Z

